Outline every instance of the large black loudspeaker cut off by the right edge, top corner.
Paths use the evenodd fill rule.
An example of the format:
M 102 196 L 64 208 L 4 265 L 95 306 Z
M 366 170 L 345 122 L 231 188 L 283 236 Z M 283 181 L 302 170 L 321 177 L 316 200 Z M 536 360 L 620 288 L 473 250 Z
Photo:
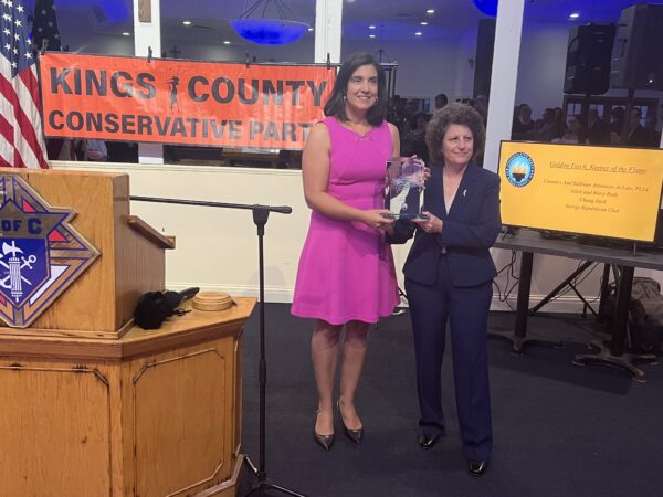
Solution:
M 663 89 L 663 6 L 638 3 L 622 10 L 610 86 Z

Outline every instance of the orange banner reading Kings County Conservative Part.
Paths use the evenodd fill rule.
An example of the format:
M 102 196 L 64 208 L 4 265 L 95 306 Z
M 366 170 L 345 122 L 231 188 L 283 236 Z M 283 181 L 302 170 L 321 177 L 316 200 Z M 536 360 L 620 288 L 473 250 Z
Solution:
M 71 53 L 41 61 L 50 137 L 301 149 L 335 68 Z

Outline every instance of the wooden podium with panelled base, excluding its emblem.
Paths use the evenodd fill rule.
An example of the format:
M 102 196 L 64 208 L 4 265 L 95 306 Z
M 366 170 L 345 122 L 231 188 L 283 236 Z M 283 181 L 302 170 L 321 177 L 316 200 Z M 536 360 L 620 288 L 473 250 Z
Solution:
M 164 289 L 173 240 L 129 214 L 128 177 L 2 175 L 74 208 L 101 257 L 31 327 L 0 327 L 0 496 L 234 496 L 255 299 L 134 326 L 138 296 Z

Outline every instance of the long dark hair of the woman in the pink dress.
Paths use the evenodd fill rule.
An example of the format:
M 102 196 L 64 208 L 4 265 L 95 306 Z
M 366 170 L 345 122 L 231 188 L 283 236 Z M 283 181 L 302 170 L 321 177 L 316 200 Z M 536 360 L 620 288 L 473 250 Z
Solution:
M 336 75 L 336 82 L 334 83 L 334 89 L 329 99 L 325 104 L 325 116 L 336 117 L 338 120 L 346 121 L 348 116 L 345 113 L 345 96 L 348 91 L 348 82 L 355 71 L 362 65 L 372 65 L 378 72 L 378 99 L 376 104 L 368 109 L 366 119 L 371 126 L 378 126 L 385 120 L 385 112 L 387 109 L 387 91 L 386 91 L 386 77 L 382 72 L 382 67 L 376 57 L 370 53 L 357 52 L 351 54 L 345 60 L 338 74 Z

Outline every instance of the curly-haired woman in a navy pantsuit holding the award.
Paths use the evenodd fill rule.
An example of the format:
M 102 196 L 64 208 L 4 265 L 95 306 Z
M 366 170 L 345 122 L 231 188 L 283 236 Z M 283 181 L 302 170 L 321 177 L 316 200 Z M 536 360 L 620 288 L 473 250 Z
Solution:
M 497 274 L 490 248 L 502 228 L 499 177 L 473 162 L 485 128 L 465 104 L 435 113 L 427 144 L 428 218 L 399 221 L 390 236 L 404 243 L 417 232 L 403 274 L 417 355 L 419 444 L 430 448 L 444 434 L 440 376 L 449 324 L 463 452 L 470 473 L 481 476 L 493 445 L 486 328 Z

